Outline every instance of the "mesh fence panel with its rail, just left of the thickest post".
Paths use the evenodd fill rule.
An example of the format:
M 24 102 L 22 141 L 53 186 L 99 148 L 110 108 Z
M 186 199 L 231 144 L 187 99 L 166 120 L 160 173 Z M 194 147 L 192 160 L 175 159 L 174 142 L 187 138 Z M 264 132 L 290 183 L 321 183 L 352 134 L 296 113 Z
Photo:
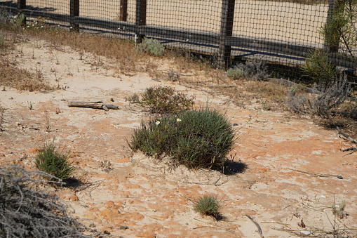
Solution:
M 162 41 L 168 47 L 216 54 L 221 12 L 217 0 L 148 0 L 145 34 L 170 39 Z

